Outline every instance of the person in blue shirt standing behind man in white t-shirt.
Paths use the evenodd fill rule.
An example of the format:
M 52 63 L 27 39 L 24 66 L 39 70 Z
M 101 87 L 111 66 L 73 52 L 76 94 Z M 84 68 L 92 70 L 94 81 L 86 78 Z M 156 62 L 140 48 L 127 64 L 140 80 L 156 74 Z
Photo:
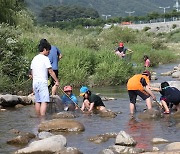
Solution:
M 40 43 L 48 42 L 46 39 L 41 39 Z M 58 62 L 62 58 L 61 51 L 54 45 L 51 45 L 51 50 L 49 52 L 48 58 L 50 60 L 52 69 L 54 73 L 56 74 L 56 77 L 58 78 Z M 48 75 L 48 77 L 50 74 Z M 56 95 L 57 92 L 57 86 L 55 85 L 55 80 L 51 77 L 50 79 L 50 85 L 49 87 L 52 88 L 51 94 Z

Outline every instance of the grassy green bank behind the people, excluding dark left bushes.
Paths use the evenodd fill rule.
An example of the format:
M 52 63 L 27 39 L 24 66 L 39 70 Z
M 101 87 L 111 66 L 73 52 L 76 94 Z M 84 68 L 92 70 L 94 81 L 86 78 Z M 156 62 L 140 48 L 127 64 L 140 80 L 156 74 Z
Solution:
M 11 29 L 8 31 L 12 32 Z M 144 69 L 143 56 L 145 54 L 149 56 L 153 66 L 159 63 L 173 62 L 178 58 L 158 37 L 127 28 L 62 31 L 48 27 L 33 27 L 30 31 L 23 29 L 13 31 L 18 31 L 18 35 L 14 38 L 18 39 L 21 44 L 21 56 L 27 61 L 27 64 L 21 67 L 26 71 L 26 75 L 24 73 L 23 77 L 19 78 L 21 81 L 16 80 L 19 83 L 28 79 L 28 65 L 38 53 L 37 45 L 42 38 L 46 38 L 51 44 L 56 45 L 63 54 L 63 58 L 59 62 L 61 86 L 66 84 L 76 87 L 85 84 L 91 86 L 124 84 L 131 75 Z M 134 51 L 130 59 L 119 59 L 114 54 L 114 49 L 120 41 Z M 23 64 L 24 60 L 19 62 Z M 15 69 L 21 71 L 17 66 Z M 11 76 L 7 75 L 7 79 L 10 80 L 10 78 Z M 0 79 L 0 82 L 3 80 Z M 31 82 L 28 84 L 29 86 L 22 85 L 21 89 L 23 86 L 24 89 L 31 87 Z M 3 89 L 0 90 L 3 91 Z

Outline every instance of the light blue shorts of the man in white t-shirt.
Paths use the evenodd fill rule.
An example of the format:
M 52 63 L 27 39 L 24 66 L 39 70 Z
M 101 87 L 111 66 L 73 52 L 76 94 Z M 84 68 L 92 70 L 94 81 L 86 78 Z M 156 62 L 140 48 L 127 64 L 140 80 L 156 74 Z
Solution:
M 37 103 L 50 102 L 47 82 L 40 82 L 40 81 L 34 82 L 33 90 L 35 93 L 35 102 Z

